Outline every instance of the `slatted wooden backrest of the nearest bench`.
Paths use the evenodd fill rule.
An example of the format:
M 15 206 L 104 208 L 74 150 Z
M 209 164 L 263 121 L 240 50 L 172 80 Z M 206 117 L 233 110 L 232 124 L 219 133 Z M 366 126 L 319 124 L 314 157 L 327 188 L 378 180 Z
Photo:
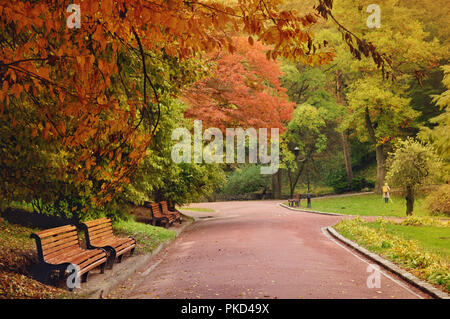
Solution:
M 33 233 L 30 237 L 36 240 L 38 258 L 41 262 L 80 246 L 78 231 L 73 225 L 50 228 Z

